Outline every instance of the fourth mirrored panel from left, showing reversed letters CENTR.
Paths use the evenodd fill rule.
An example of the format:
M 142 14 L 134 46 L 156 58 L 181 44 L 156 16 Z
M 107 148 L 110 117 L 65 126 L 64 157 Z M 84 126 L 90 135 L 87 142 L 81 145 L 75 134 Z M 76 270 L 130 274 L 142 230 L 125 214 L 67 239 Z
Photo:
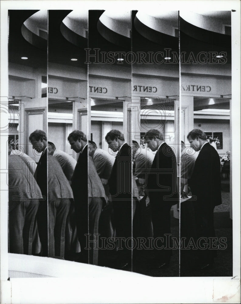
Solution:
M 179 275 L 178 11 L 132 12 L 133 270 Z

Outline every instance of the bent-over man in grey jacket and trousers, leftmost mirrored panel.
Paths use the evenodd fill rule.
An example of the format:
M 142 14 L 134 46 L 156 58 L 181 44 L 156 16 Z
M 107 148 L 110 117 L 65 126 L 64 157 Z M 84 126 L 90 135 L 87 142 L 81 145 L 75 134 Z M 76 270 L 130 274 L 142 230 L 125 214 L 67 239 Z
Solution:
M 11 153 L 12 146 L 9 145 Z M 39 186 L 21 157 L 9 153 L 9 252 L 32 254 Z

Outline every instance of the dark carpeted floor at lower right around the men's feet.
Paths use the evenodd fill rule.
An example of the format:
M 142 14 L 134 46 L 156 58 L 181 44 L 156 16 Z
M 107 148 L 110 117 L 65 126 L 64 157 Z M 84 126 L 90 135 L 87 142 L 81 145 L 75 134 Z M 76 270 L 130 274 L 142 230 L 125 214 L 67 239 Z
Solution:
M 129 264 L 125 270 L 153 277 L 232 276 L 232 220 L 229 217 L 229 195 L 229 179 L 222 179 L 222 205 L 215 207 L 214 227 L 216 237 L 224 238 L 227 247 L 218 250 L 215 263 L 211 269 L 193 270 L 189 267 L 189 261 L 181 263 L 180 267 L 180 250 L 173 249 L 170 265 L 167 268 L 160 270 L 153 267 L 150 262 L 153 257 L 152 250 L 135 250 L 133 251 L 132 264 Z M 171 210 L 171 233 L 172 237 L 179 239 L 179 220 L 173 217 L 173 210 Z M 100 265 L 110 267 L 115 258 L 115 252 L 113 251 L 100 250 L 99 252 Z

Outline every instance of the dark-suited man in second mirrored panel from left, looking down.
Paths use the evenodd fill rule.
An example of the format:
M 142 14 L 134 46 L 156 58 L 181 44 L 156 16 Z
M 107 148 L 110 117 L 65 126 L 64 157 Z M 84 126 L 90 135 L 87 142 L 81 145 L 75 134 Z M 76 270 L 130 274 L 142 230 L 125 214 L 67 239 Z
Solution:
M 88 263 L 86 236 L 88 234 L 88 143 L 86 135 L 80 130 L 74 130 L 68 136 L 71 149 L 80 153 L 71 179 L 74 195 L 74 210 L 76 215 L 77 234 L 81 247 L 80 262 Z

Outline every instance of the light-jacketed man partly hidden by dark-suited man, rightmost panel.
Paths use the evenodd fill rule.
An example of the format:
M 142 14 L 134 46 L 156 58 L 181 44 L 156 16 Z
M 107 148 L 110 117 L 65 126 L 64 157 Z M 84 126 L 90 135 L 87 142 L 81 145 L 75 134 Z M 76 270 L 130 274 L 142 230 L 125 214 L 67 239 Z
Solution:
M 186 147 L 181 141 L 181 191 L 182 196 L 188 194 L 188 179 L 191 178 L 198 152 L 192 147 Z

